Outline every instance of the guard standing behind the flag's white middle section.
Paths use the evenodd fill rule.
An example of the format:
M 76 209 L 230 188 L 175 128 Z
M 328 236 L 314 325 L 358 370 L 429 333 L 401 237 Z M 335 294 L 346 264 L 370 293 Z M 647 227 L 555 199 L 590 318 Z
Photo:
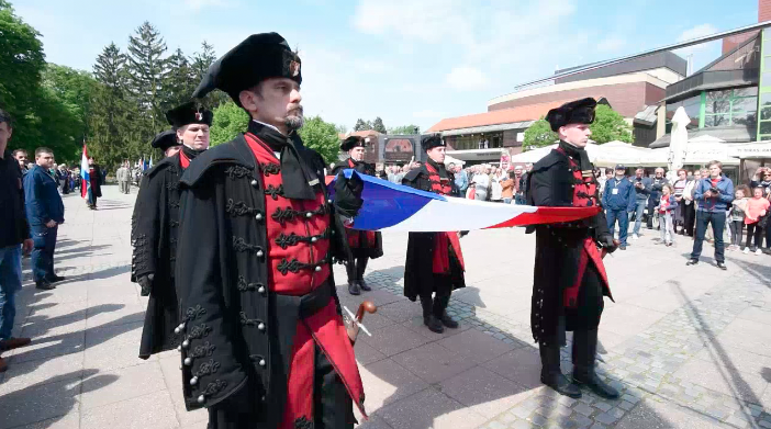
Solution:
M 450 195 L 455 180 L 445 168 L 445 142 L 433 135 L 423 138 L 422 145 L 428 160 L 410 170 L 402 183 L 422 191 Z M 444 326 L 458 327 L 458 323 L 447 314 L 447 306 L 452 291 L 466 287 L 463 271 L 458 233 L 410 233 L 404 263 L 404 296 L 410 301 L 420 296 L 423 323 L 432 331 L 442 334 Z M 432 297 L 433 294 L 436 296 Z

